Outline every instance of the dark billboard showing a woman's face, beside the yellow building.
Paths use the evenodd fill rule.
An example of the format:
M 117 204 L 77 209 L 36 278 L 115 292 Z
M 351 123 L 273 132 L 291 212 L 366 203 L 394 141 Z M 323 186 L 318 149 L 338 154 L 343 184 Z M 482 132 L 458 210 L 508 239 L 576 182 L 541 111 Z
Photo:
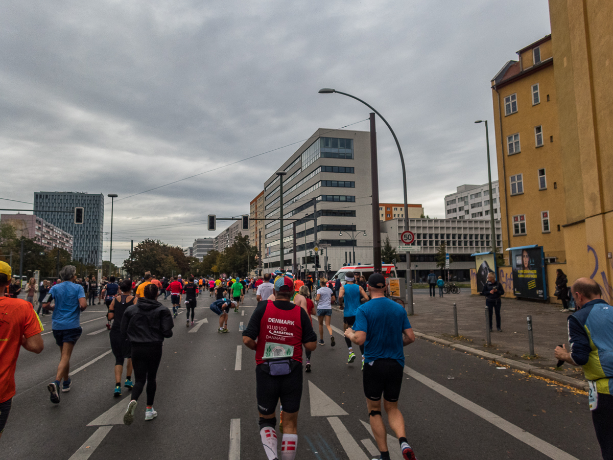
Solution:
M 542 246 L 509 248 L 513 270 L 513 293 L 517 297 L 547 299 Z

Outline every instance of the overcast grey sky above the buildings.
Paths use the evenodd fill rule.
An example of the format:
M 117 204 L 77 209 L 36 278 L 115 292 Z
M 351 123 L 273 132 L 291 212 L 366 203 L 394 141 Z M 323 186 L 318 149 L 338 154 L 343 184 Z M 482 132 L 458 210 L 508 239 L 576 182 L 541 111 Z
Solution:
M 248 213 L 316 129 L 368 118 L 353 99 L 317 93 L 330 87 L 387 118 L 409 202 L 444 217 L 444 195 L 487 182 L 484 126 L 473 121 L 492 120 L 490 80 L 549 33 L 546 0 L 6 0 L 0 197 L 116 193 L 113 261 L 131 239 L 187 247 L 215 236 L 207 214 Z M 402 202 L 394 140 L 377 128 L 380 199 Z

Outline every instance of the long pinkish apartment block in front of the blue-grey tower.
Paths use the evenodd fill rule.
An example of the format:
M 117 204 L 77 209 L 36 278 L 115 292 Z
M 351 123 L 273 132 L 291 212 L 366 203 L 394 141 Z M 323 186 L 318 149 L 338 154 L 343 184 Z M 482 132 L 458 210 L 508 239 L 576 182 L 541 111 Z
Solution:
M 2 214 L 0 222 L 12 225 L 17 238 L 25 237 L 34 240 L 47 251 L 60 248 L 72 255 L 72 235 L 51 225 L 43 218 L 33 214 Z

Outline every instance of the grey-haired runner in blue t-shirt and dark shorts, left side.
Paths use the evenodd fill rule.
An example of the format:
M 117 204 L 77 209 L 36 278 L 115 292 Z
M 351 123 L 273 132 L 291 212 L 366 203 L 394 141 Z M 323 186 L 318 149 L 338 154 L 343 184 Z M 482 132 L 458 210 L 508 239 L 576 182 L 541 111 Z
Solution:
M 79 316 L 87 308 L 83 286 L 74 283 L 77 279 L 76 272 L 77 267 L 74 265 L 67 265 L 59 270 L 62 282 L 50 289 L 42 304 L 44 309 L 53 310 L 51 330 L 61 353 L 55 381 L 47 385 L 51 402 L 55 404 L 59 403 L 60 379 L 64 381 L 63 393 L 70 391 L 70 355 L 83 331 Z M 51 300 L 55 300 L 55 305 L 51 306 Z

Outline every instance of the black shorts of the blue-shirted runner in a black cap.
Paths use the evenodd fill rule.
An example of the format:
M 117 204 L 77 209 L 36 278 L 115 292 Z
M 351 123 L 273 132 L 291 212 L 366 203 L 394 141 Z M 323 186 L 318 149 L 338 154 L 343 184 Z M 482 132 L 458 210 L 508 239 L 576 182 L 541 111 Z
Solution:
M 377 359 L 364 364 L 362 382 L 367 399 L 379 401 L 383 394 L 386 401 L 398 401 L 403 371 L 403 367 L 395 359 Z

